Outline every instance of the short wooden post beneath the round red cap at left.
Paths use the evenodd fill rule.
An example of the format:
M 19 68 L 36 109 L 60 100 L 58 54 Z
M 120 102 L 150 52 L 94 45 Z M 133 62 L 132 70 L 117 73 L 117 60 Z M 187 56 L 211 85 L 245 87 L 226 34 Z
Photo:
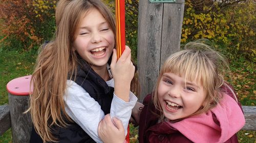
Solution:
M 32 120 L 30 113 L 24 113 L 28 109 L 28 99 L 29 96 L 16 96 L 8 93 L 13 143 L 30 141 Z

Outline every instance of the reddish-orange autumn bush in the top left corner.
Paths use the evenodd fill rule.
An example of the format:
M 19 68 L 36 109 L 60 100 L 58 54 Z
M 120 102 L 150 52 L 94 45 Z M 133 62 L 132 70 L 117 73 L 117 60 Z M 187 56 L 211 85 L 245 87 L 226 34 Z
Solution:
M 1 41 L 22 44 L 25 49 L 53 35 L 56 1 L 2 0 L 0 3 Z

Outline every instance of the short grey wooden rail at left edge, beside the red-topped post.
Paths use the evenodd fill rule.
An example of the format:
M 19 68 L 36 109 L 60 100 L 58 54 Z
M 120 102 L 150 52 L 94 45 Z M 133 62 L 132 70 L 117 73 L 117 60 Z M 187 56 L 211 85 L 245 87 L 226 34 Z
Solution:
M 4 134 L 11 127 L 9 105 L 0 106 L 0 135 Z

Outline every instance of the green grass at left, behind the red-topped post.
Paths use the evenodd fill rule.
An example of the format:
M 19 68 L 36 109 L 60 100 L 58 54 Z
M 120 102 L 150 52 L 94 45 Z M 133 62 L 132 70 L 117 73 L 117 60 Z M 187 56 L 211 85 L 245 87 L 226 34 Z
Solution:
M 32 74 L 36 53 L 34 49 L 24 51 L 0 48 L 0 105 L 8 104 L 6 84 L 10 80 Z M 12 142 L 11 129 L 0 136 L 0 142 Z

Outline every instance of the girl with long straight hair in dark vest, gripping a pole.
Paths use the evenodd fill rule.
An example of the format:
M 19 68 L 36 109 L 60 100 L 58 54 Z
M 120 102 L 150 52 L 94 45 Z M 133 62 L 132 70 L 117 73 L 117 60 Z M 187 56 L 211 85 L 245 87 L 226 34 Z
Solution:
M 100 0 L 60 0 L 56 26 L 32 75 L 31 142 L 102 142 L 97 128 L 108 113 L 127 129 L 135 67 L 127 46 L 117 61 L 112 13 Z

